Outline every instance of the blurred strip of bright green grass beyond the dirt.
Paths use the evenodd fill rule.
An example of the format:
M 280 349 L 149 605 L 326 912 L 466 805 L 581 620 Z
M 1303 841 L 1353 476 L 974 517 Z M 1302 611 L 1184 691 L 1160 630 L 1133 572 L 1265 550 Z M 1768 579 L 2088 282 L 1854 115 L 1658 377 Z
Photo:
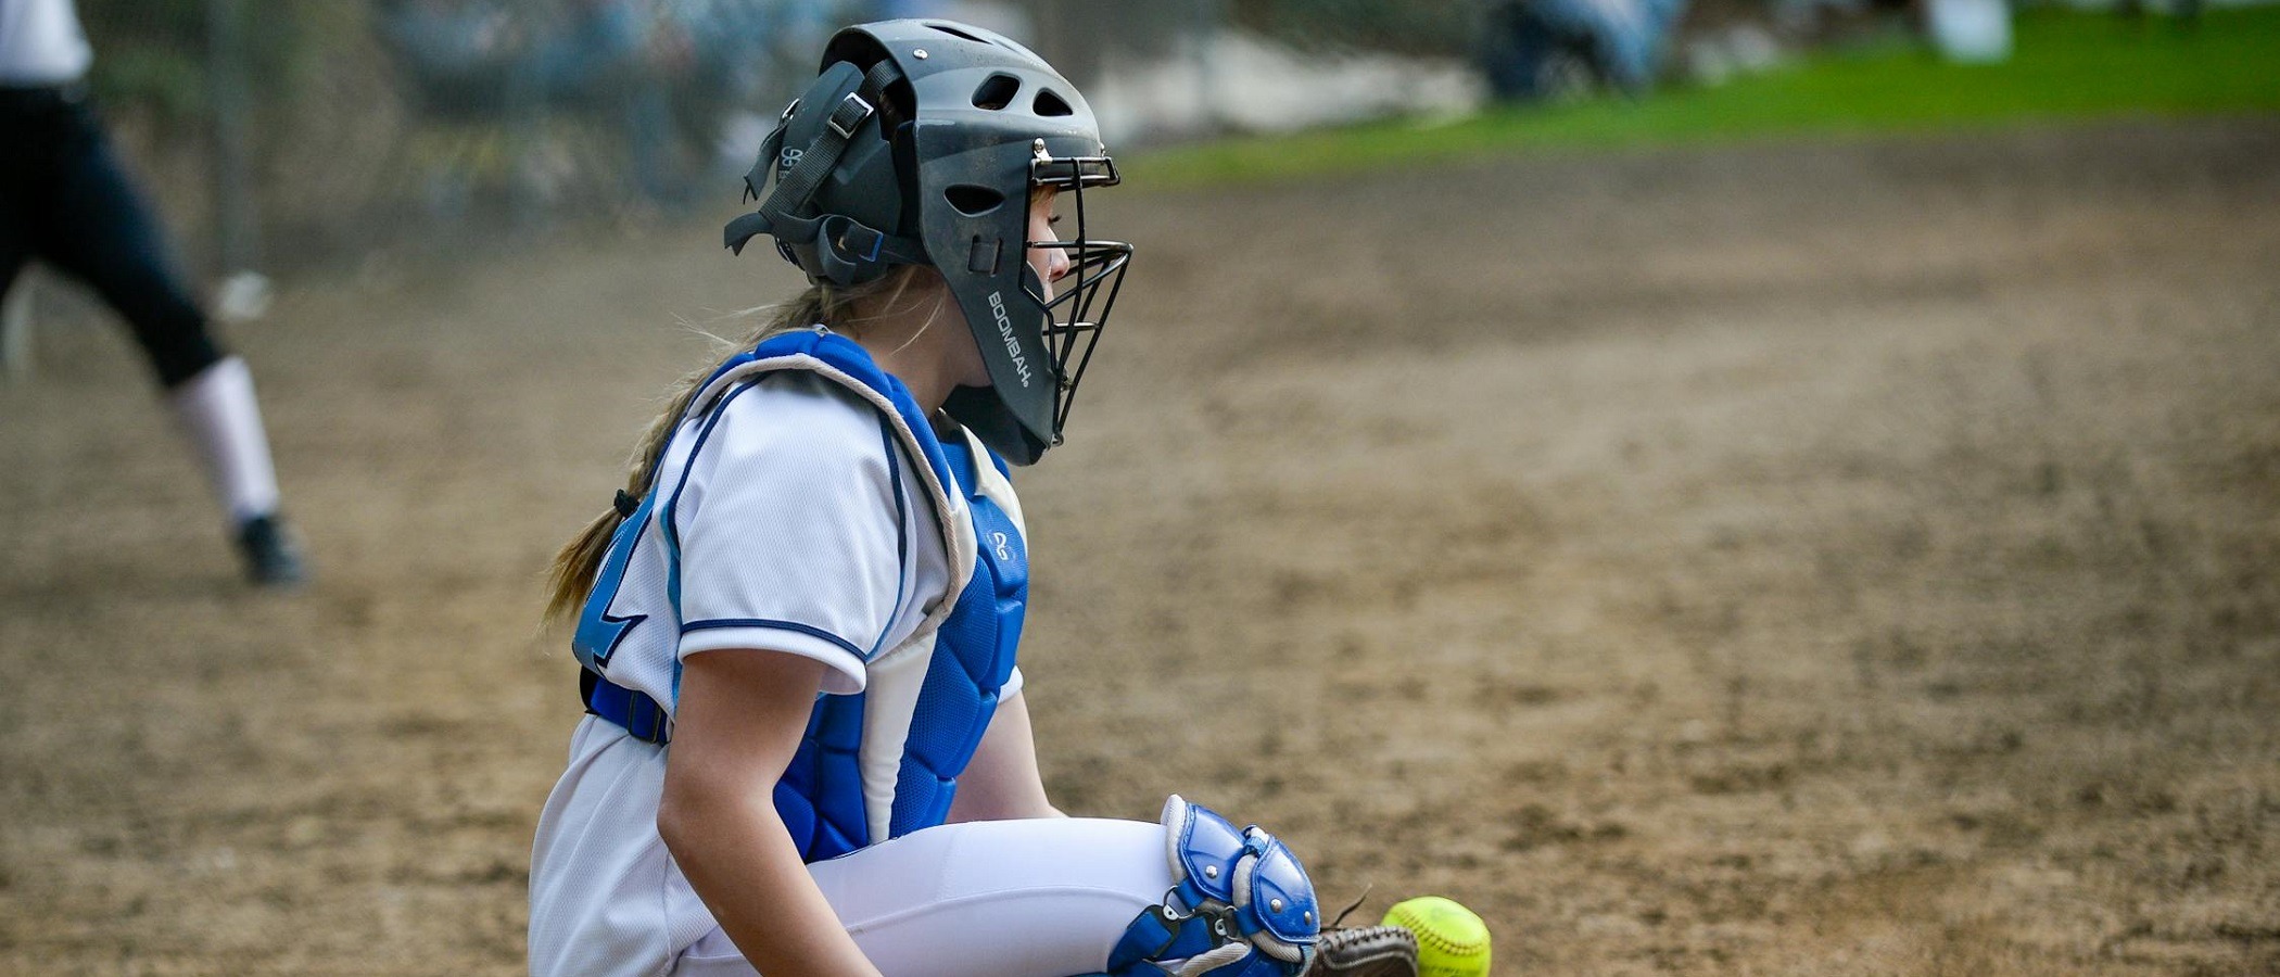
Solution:
M 2196 27 L 2098 11 L 2025 11 L 2006 64 L 1888 43 L 1794 59 L 1721 87 L 1639 100 L 1523 105 L 1140 153 L 1140 187 L 1411 166 L 1498 153 L 1943 132 L 2111 116 L 2280 112 L 2280 7 L 2209 9 Z

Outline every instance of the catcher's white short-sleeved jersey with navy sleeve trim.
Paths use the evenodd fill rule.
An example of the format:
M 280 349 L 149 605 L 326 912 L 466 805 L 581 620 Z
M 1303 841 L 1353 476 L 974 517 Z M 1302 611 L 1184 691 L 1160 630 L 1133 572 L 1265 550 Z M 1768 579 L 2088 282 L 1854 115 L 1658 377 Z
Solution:
M 609 681 L 670 713 L 682 656 L 775 649 L 828 665 L 825 692 L 862 692 L 864 665 L 951 578 L 926 485 L 887 437 L 869 403 L 805 371 L 684 419 L 609 604 L 629 624 Z

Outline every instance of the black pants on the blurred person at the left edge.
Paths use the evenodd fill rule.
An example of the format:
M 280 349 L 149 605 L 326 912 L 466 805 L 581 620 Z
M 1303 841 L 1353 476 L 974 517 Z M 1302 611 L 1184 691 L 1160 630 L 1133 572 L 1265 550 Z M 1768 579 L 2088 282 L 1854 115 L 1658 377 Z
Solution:
M 176 387 L 221 360 L 150 207 L 75 89 L 0 87 L 0 296 L 39 257 L 119 310 Z

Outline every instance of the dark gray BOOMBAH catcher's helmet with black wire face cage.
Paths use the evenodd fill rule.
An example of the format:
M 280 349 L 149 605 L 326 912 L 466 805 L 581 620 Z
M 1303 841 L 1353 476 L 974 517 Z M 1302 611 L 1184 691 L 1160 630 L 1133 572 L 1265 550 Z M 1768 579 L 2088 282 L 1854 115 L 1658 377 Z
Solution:
M 823 73 L 746 175 L 759 210 L 725 237 L 739 253 L 752 235 L 775 237 L 814 285 L 898 264 L 942 271 L 992 383 L 958 387 L 944 408 L 1028 465 L 1060 444 L 1131 260 L 1129 244 L 1085 237 L 1085 189 L 1115 182 L 1092 109 L 1042 57 L 951 20 L 882 20 L 832 36 Z M 1028 200 L 1044 187 L 1069 196 L 1074 239 L 1028 239 Z M 1069 257 L 1051 298 L 1033 246 Z

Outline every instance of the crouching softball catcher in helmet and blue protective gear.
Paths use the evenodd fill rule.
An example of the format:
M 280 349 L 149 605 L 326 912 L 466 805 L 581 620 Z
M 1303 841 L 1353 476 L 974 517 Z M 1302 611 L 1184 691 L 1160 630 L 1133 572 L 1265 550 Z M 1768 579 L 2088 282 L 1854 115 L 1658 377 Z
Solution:
M 746 182 L 727 246 L 771 237 L 809 289 L 561 553 L 591 715 L 531 854 L 531 972 L 1414 972 L 1322 959 L 1259 827 L 1047 802 L 1008 476 L 1060 442 L 1131 257 L 1085 223 L 1117 169 L 1083 96 L 985 30 L 848 27 Z

